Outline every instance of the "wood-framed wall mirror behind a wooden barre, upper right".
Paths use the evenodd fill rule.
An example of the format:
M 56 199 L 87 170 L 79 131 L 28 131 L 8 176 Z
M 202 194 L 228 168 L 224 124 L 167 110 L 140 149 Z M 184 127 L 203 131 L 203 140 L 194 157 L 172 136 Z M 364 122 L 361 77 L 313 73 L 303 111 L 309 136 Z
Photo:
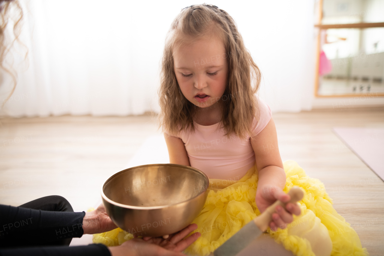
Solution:
M 322 2 L 316 96 L 384 96 L 384 1 Z

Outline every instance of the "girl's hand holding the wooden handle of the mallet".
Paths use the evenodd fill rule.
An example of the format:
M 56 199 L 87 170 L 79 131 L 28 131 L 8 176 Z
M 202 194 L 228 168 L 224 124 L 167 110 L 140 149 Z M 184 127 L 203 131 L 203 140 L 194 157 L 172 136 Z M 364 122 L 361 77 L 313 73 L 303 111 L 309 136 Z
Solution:
M 291 200 L 291 197 L 277 186 L 268 185 L 263 188 L 257 188 L 255 201 L 260 213 L 275 203 L 276 200 L 286 203 Z M 300 212 L 301 209 L 298 204 L 288 203 L 286 204 L 286 209 L 280 205 L 276 206 L 276 213 L 272 214 L 273 221 L 269 224 L 271 230 L 276 231 L 278 228 L 286 228 L 286 225 L 293 221 L 292 214 L 299 215 Z

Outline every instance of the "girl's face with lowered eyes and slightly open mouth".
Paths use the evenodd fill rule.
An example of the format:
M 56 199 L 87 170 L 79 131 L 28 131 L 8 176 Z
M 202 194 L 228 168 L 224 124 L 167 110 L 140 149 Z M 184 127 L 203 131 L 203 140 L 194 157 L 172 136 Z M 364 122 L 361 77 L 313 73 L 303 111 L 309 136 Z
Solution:
M 216 37 L 182 45 L 173 52 L 174 71 L 180 90 L 195 106 L 212 106 L 227 85 L 227 54 Z

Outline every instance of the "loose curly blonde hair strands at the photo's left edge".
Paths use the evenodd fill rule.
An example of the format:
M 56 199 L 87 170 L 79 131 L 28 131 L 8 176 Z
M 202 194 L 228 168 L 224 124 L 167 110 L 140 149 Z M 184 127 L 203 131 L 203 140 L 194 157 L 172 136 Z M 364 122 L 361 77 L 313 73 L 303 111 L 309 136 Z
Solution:
M 11 43 L 9 43 L 8 45 L 5 45 L 5 29 L 10 19 L 13 21 L 12 30 L 15 38 Z M 11 76 L 13 81 L 13 88 L 11 90 L 11 93 L 3 101 L 1 108 L 12 96 L 17 84 L 17 73 L 15 70 L 12 69 L 12 67 L 4 66 L 4 58 L 5 58 L 5 55 L 9 53 L 10 49 L 13 46 L 13 43 L 15 41 L 18 41 L 21 27 L 22 27 L 22 20 L 23 20 L 23 11 L 20 6 L 20 3 L 17 0 L 10 0 L 10 1 L 0 0 L 0 70 L 2 69 L 5 72 L 7 72 Z M 27 53 L 28 53 L 28 50 L 26 52 L 26 55 Z M 25 58 L 26 58 L 26 55 L 25 55 Z

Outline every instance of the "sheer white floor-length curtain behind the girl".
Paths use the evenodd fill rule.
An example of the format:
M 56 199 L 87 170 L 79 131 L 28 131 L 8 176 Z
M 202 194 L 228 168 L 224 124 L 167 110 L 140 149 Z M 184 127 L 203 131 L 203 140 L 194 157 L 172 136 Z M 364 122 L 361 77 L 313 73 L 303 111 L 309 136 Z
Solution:
M 7 60 L 18 73 L 1 116 L 138 115 L 159 111 L 166 32 L 190 1 L 20 0 L 24 24 Z M 237 22 L 263 73 L 272 111 L 310 110 L 314 0 L 215 1 Z M 1 103 L 11 86 L 0 71 Z

